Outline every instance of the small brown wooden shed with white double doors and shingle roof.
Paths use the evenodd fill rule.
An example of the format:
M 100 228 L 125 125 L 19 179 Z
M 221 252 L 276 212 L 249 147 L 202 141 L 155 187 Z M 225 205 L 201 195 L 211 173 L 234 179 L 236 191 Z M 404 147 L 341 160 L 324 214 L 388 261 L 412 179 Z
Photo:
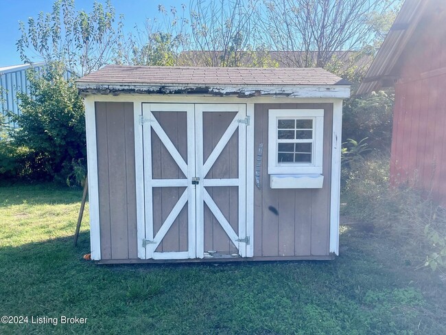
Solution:
M 323 69 L 109 65 L 77 84 L 93 259 L 338 254 L 349 82 Z

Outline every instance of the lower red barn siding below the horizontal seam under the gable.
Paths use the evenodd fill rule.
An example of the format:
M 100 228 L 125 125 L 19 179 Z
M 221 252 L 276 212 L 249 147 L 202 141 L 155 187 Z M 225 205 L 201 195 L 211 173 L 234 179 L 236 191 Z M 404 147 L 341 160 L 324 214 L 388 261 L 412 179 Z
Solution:
M 432 191 L 446 205 L 446 74 L 399 83 L 395 97 L 391 181 Z

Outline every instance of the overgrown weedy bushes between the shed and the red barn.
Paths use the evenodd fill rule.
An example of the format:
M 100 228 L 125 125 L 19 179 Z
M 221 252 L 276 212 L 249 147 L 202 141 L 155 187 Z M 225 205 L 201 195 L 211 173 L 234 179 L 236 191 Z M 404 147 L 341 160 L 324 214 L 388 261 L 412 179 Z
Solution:
M 343 215 L 373 224 L 417 265 L 446 268 L 446 210 L 413 187 L 389 187 L 387 155 L 371 154 L 344 166 L 342 178 Z

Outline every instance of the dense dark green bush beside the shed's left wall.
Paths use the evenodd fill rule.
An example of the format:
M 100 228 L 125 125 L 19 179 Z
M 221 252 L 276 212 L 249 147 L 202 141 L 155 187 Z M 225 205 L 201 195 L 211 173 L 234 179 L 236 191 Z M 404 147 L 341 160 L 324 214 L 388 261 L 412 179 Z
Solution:
M 30 94 L 17 95 L 21 115 L 10 115 L 19 125 L 10 144 L 27 148 L 23 174 L 32 179 L 67 181 L 73 162 L 85 161 L 84 104 L 64 71 L 56 63 L 43 73 L 28 71 Z

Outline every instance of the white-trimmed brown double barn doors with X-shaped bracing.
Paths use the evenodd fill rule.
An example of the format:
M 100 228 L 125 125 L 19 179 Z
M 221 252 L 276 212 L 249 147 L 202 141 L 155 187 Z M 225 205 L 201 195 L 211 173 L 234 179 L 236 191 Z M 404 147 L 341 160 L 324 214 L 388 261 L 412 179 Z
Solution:
M 145 258 L 246 257 L 246 105 L 142 109 Z

